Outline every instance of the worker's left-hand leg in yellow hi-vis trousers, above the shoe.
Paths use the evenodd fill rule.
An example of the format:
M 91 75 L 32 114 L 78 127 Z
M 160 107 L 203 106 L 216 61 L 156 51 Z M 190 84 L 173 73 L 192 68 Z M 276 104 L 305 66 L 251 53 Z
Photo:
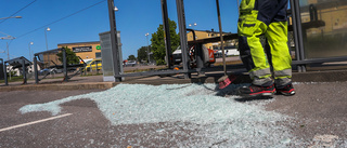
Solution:
M 255 0 L 243 0 L 240 5 L 237 23 L 240 56 L 255 85 L 272 85 L 270 66 L 260 43 L 259 36 L 265 33 L 267 25 L 257 19 Z

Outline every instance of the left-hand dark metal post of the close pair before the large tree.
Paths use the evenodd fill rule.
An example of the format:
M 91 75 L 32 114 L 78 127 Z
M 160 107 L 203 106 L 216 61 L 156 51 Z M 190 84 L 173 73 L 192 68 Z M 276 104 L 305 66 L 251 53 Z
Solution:
M 164 38 L 165 38 L 165 46 L 166 46 L 166 63 L 169 68 L 174 68 L 172 66 L 172 50 L 171 50 L 171 38 L 170 38 L 170 26 L 168 21 L 168 12 L 167 12 L 167 1 L 160 0 L 162 2 L 162 13 L 163 13 L 163 26 L 164 26 Z

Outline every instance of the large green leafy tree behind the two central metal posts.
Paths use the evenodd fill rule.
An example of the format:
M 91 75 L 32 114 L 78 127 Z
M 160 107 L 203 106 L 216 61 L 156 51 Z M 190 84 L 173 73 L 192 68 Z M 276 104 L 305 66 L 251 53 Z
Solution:
M 180 45 L 180 36 L 176 32 L 177 24 L 169 19 L 169 30 L 171 39 L 172 52 Z M 166 49 L 164 39 L 164 26 L 160 24 L 157 31 L 152 33 L 152 52 L 153 58 L 156 60 L 157 65 L 165 64 Z

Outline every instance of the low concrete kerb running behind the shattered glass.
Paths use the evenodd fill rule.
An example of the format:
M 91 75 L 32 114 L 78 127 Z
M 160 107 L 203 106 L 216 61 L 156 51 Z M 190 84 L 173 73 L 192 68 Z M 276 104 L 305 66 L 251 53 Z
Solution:
M 119 83 L 129 84 L 183 84 L 183 83 L 217 83 L 221 75 L 196 76 L 192 79 L 183 79 L 182 77 L 145 77 L 138 79 L 128 79 L 124 82 L 66 82 L 66 83 L 49 83 L 49 84 L 23 84 L 0 86 L 0 92 L 5 91 L 74 91 L 74 90 L 107 90 Z M 335 82 L 347 81 L 347 70 L 329 70 L 329 71 L 309 71 L 293 72 L 294 82 Z M 245 73 L 239 73 L 234 83 L 249 83 L 250 79 Z

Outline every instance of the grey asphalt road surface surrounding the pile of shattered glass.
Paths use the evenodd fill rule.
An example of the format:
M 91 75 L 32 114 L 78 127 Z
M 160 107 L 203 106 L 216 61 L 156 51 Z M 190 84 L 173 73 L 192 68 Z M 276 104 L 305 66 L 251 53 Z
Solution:
M 347 147 L 347 82 L 295 83 L 294 86 L 295 96 L 275 95 L 266 105 L 267 110 L 293 117 L 279 124 L 305 140 L 301 147 Z M 18 111 L 25 105 L 100 91 L 103 90 L 0 92 L 0 147 L 178 147 L 178 142 L 192 138 L 189 136 L 193 131 L 184 126 L 180 132 L 187 134 L 175 136 L 171 130 L 179 130 L 176 123 L 112 125 L 88 98 L 63 104 L 55 119 L 50 119 L 52 115 L 47 111 L 24 115 Z M 267 100 L 244 104 L 262 102 Z M 218 147 L 224 142 L 206 147 Z

